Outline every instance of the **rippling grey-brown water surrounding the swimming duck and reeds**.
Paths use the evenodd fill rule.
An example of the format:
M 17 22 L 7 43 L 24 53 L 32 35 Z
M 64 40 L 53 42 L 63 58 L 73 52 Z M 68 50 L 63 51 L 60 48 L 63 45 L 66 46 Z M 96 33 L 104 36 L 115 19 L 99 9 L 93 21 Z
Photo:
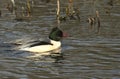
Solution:
M 14 20 L 5 8 L 7 0 L 0 3 L 0 79 L 120 79 L 120 2 L 109 0 L 75 0 L 80 8 L 81 20 L 68 20 L 61 28 L 69 33 L 63 39 L 61 54 L 44 55 L 13 50 L 11 42 L 46 38 L 50 29 L 57 26 L 54 0 L 45 3 L 35 0 L 32 18 Z M 22 0 L 18 3 L 24 3 Z M 66 3 L 65 3 L 66 2 Z M 61 1 L 62 8 L 67 1 Z M 111 8 L 110 11 L 107 8 Z M 100 12 L 101 28 L 90 28 L 86 21 Z M 108 13 L 106 12 L 108 11 Z M 110 13 L 109 13 L 110 12 Z

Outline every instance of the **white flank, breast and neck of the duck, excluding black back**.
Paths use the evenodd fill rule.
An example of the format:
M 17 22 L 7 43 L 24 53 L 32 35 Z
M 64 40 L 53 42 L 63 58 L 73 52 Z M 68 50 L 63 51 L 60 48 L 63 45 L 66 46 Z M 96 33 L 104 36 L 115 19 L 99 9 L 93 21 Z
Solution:
M 51 40 L 51 43 L 53 45 L 40 45 L 40 46 L 34 46 L 34 47 L 26 47 L 20 50 L 30 51 L 30 52 L 48 52 L 48 51 L 55 50 L 61 46 L 60 41 Z

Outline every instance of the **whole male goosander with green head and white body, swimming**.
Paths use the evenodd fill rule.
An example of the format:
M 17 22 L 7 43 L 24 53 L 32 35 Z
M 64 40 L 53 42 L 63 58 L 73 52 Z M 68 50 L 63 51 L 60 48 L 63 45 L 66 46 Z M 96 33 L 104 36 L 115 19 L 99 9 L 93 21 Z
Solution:
M 48 52 L 60 48 L 61 39 L 64 36 L 62 30 L 58 27 L 54 27 L 49 34 L 50 42 L 46 41 L 35 41 L 25 48 L 21 48 L 22 51 L 29 52 Z

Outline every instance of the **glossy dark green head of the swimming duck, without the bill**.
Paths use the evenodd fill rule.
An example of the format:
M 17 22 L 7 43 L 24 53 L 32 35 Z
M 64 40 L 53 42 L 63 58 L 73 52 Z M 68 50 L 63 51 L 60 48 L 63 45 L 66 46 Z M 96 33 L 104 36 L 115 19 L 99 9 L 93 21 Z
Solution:
M 49 38 L 55 41 L 60 41 L 62 37 L 63 32 L 58 27 L 54 27 L 49 34 Z

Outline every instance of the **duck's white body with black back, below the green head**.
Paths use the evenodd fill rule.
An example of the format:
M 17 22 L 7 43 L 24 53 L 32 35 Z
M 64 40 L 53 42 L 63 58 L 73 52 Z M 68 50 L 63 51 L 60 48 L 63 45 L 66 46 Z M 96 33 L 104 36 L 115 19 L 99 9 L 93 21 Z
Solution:
M 60 41 L 54 41 L 54 40 L 50 40 L 50 41 L 51 41 L 50 43 L 40 41 L 28 47 L 21 48 L 20 50 L 30 51 L 30 52 L 48 52 L 61 47 Z

